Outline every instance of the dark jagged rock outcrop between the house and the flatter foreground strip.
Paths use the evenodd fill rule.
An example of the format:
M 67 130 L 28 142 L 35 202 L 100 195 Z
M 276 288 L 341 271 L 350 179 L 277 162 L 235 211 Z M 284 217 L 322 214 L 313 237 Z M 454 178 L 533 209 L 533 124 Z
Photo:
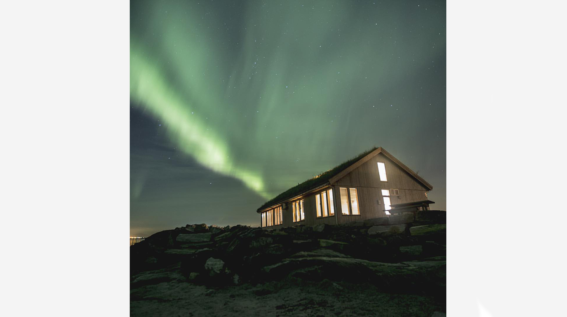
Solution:
M 410 293 L 443 291 L 445 232 L 443 212 L 277 230 L 188 224 L 130 247 L 131 286 L 160 281 L 234 285 L 299 278 L 365 281 Z

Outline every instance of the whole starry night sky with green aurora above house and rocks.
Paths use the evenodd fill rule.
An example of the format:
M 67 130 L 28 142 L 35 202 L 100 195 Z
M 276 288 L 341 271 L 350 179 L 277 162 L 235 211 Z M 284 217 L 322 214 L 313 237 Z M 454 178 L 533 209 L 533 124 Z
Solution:
M 130 2 L 130 235 L 256 209 L 383 147 L 446 209 L 445 1 Z

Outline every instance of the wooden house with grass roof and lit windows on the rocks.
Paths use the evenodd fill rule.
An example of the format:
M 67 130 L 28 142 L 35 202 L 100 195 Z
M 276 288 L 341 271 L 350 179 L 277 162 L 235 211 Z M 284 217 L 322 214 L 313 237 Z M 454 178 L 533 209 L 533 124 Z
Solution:
M 429 209 L 428 182 L 386 152 L 373 148 L 257 209 L 264 228 L 342 224 L 390 215 L 392 206 Z

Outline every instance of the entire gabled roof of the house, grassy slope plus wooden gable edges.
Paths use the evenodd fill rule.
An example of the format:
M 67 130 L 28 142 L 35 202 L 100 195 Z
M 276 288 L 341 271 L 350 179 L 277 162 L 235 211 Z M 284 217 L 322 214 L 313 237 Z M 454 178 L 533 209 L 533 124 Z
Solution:
M 264 210 L 265 208 L 278 205 L 279 203 L 285 202 L 290 198 L 294 198 L 301 194 L 307 193 L 308 191 L 314 190 L 318 187 L 336 182 L 340 180 L 342 177 L 346 176 L 346 174 L 352 172 L 352 170 L 356 169 L 358 166 L 370 160 L 370 158 L 373 158 L 374 156 L 378 155 L 378 153 L 382 153 L 386 157 L 390 158 L 390 160 L 392 160 L 396 165 L 399 165 L 401 169 L 405 170 L 405 172 L 410 174 L 412 177 L 416 178 L 418 182 L 422 183 L 429 190 L 433 189 L 433 186 L 429 185 L 428 182 L 426 182 L 423 178 L 421 178 L 416 173 L 414 173 L 411 169 L 408 168 L 408 166 L 405 166 L 402 162 L 397 160 L 397 158 L 393 157 L 390 153 L 386 152 L 386 150 L 384 150 L 381 147 L 379 148 L 374 147 L 366 152 L 357 155 L 356 157 L 351 158 L 348 161 L 342 162 L 340 165 L 337 165 L 334 168 L 329 169 L 327 172 L 315 176 L 310 180 L 304 181 L 301 184 L 298 184 L 297 186 L 291 187 L 290 189 L 284 191 L 284 193 L 281 193 L 276 197 L 270 199 L 269 201 L 265 202 L 264 205 L 260 206 L 260 208 L 257 209 L 257 211 L 259 212 L 261 210 Z

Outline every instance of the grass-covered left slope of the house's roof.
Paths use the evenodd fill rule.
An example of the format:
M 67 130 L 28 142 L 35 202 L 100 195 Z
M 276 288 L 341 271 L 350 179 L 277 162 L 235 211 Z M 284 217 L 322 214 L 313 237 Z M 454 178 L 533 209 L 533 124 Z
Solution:
M 258 211 L 260 211 L 260 210 L 262 210 L 266 207 L 276 205 L 277 203 L 283 202 L 286 199 L 292 198 L 292 197 L 299 195 L 299 194 L 301 194 L 305 191 L 308 191 L 310 189 L 314 189 L 315 187 L 323 185 L 331 177 L 342 172 L 342 170 L 348 168 L 350 165 L 353 165 L 355 162 L 357 162 L 361 158 L 369 155 L 370 152 L 374 151 L 375 149 L 377 149 L 377 148 L 376 147 L 371 148 L 368 151 L 360 153 L 356 157 L 353 157 L 348 161 L 344 161 L 341 164 L 335 166 L 334 168 L 327 170 L 327 172 L 323 172 L 323 173 L 319 174 L 318 176 L 311 178 L 310 180 L 304 181 L 297 186 L 291 187 L 290 189 L 284 191 L 284 193 L 281 193 L 281 194 L 277 195 L 276 197 L 270 199 L 269 201 L 265 202 L 264 205 L 262 205 L 262 206 L 260 206 L 260 208 L 258 208 Z

